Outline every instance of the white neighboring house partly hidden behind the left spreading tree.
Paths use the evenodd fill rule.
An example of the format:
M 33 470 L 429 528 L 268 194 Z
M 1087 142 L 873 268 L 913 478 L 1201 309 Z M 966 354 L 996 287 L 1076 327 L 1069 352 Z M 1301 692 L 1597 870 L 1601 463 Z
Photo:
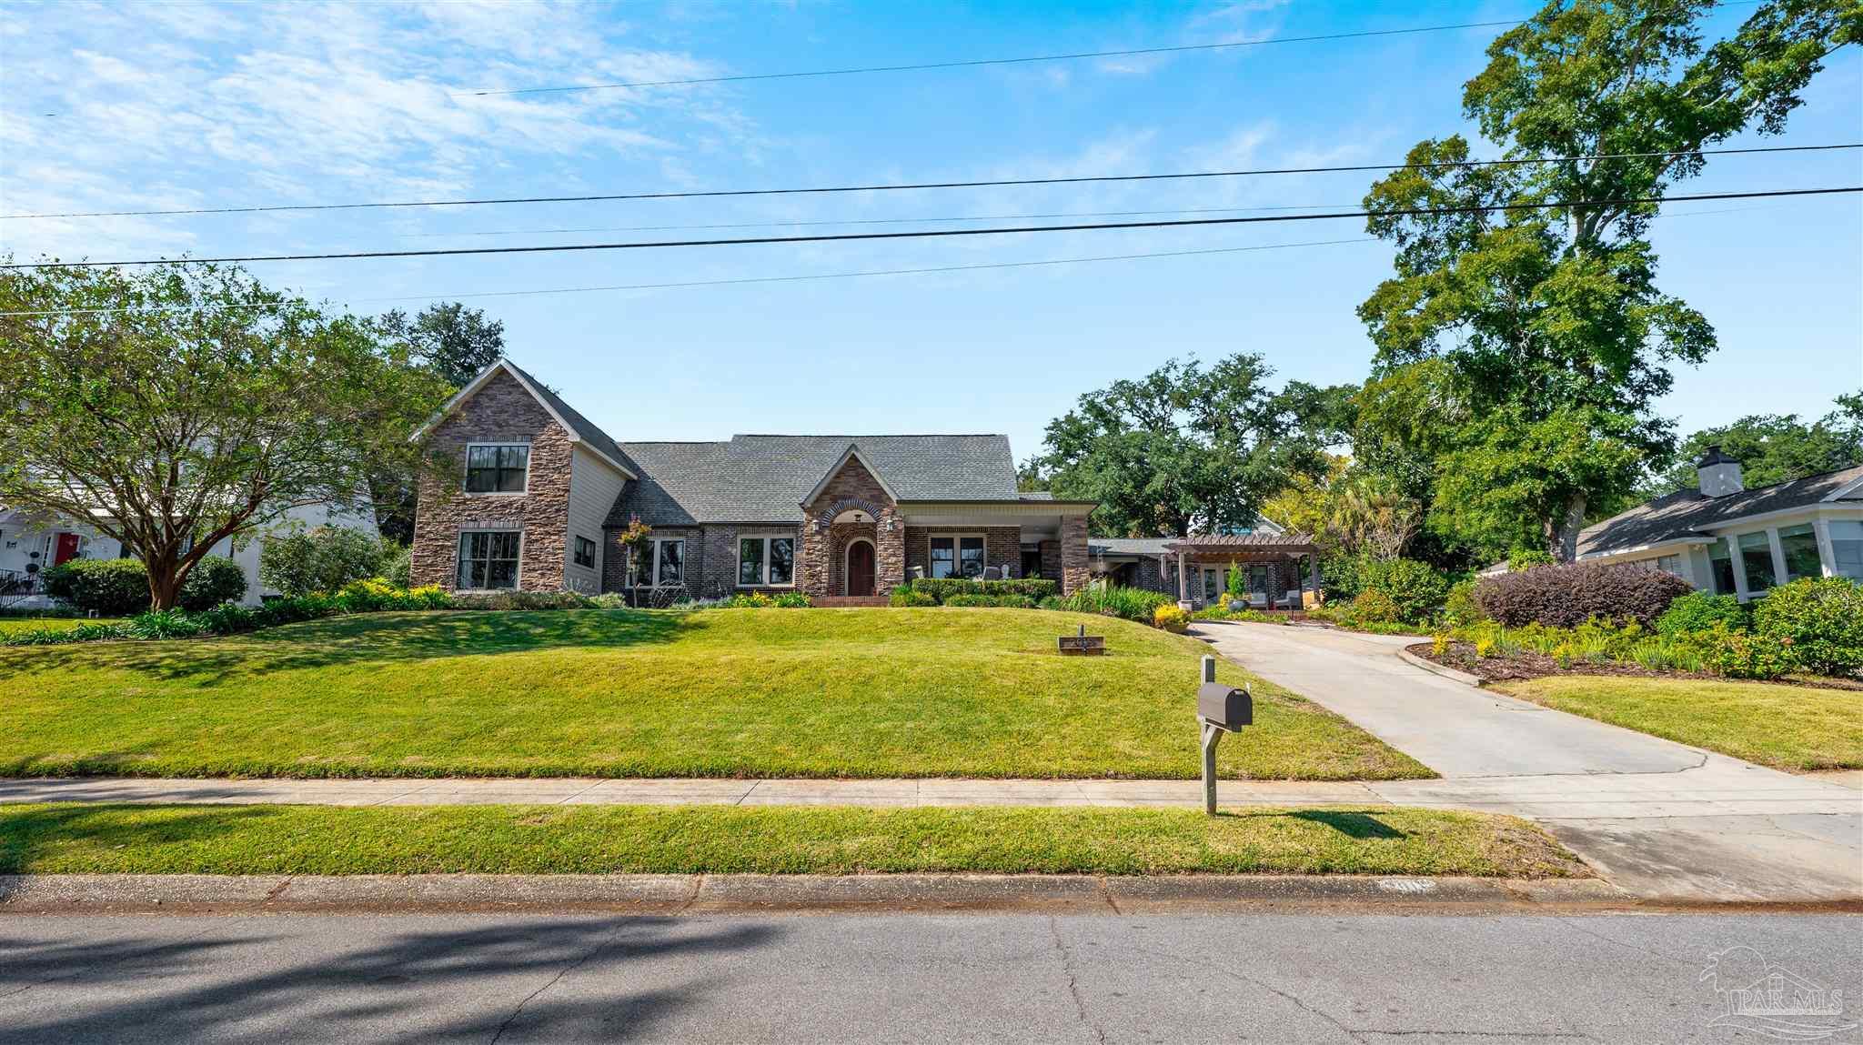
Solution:
M 266 529 L 285 529 L 291 525 L 319 527 L 343 525 L 378 535 L 374 512 L 348 510 L 333 505 L 306 505 L 285 512 L 285 518 Z M 233 559 L 246 572 L 246 605 L 257 605 L 265 596 L 278 592 L 259 585 L 259 535 L 250 535 L 242 548 L 233 548 L 231 540 L 214 544 L 211 555 Z M 104 536 L 95 525 L 73 522 L 69 518 L 39 518 L 0 507 L 0 607 L 43 609 L 52 600 L 39 592 L 39 577 L 50 566 L 71 559 L 123 559 L 123 544 L 114 536 Z

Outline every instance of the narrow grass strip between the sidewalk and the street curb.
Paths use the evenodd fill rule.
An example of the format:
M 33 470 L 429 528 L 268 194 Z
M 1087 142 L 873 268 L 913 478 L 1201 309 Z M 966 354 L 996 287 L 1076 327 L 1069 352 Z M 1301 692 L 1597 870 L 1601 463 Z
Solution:
M 1582 877 L 1509 816 L 1263 808 L 0 807 L 11 874 L 1462 874 Z

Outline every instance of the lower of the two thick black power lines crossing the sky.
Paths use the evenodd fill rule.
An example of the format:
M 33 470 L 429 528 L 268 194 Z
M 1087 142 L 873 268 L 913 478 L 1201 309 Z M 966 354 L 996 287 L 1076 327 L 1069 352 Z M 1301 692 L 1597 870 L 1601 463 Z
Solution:
M 1643 203 L 1684 203 L 1699 199 L 1762 199 L 1779 196 L 1833 196 L 1863 192 L 1863 184 L 1857 186 L 1835 186 L 1835 188 L 1775 188 L 1762 192 L 1705 192 L 1693 196 L 1636 196 L 1623 199 L 1585 199 L 1576 203 L 1576 207 L 1636 207 Z M 989 227 L 989 229 L 915 229 L 905 233 L 831 233 L 816 237 L 745 237 L 745 238 L 712 238 L 712 240 L 633 240 L 633 242 L 605 242 L 605 244 L 550 244 L 550 246 L 475 246 L 475 248 L 443 248 L 443 250 L 360 250 L 343 253 L 250 253 L 250 255 L 225 255 L 225 257 L 175 257 L 175 259 L 134 259 L 134 261 L 43 261 L 43 263 L 20 263 L 20 265 L 0 265 L 0 270 L 19 270 L 19 268 L 116 268 L 116 266 L 140 266 L 140 265 L 222 265 L 222 263 L 252 263 L 252 261 L 350 261 L 363 257 L 456 257 L 469 253 L 568 253 L 568 251 L 592 251 L 592 250 L 654 250 L 654 248 L 674 248 L 674 246 L 756 246 L 756 244 L 805 244 L 805 242 L 844 242 L 844 240 L 911 240 L 911 238 L 948 238 L 948 237 L 1002 237 L 1002 235 L 1021 235 L 1021 233 L 1086 233 L 1101 229 L 1176 229 L 1189 225 L 1256 225 L 1267 222 L 1323 222 L 1338 218 L 1407 218 L 1407 216 L 1427 216 L 1427 214 L 1485 214 L 1485 212 L 1513 212 L 1513 210 L 1552 210 L 1559 207 L 1574 207 L 1574 203 L 1552 201 L 1552 203 L 1494 203 L 1494 205 L 1475 205 L 1475 207 L 1405 207 L 1394 210 L 1330 210 L 1319 214 L 1256 214 L 1250 218 L 1177 218 L 1172 222 L 1097 222 L 1097 224 L 1075 224 L 1075 225 L 1008 225 L 1008 227 Z

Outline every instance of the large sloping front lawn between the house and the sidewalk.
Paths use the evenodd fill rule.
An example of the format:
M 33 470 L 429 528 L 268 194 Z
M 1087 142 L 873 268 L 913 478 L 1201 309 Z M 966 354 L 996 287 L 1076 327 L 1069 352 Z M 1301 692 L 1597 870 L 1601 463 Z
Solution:
M 1108 656 L 1054 652 L 1081 622 Z M 6 648 L 0 773 L 1183 779 L 1205 650 L 1028 609 L 380 613 Z M 1256 721 L 1222 775 L 1431 775 L 1261 682 Z

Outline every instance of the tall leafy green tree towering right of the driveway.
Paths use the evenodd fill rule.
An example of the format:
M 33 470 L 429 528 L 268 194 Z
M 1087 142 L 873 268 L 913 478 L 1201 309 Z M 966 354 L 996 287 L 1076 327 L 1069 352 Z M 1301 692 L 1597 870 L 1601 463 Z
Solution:
M 1360 406 L 1423 436 L 1394 441 L 1433 460 L 1433 527 L 1502 551 L 1530 536 L 1571 561 L 1585 522 L 1673 451 L 1652 404 L 1669 365 L 1699 363 L 1716 337 L 1656 285 L 1649 199 L 1701 173 L 1697 149 L 1785 130 L 1824 58 L 1863 30 L 1854 0 L 1768 0 L 1707 43 L 1714 7 L 1552 2 L 1464 84 L 1464 115 L 1503 158 L 1617 158 L 1464 166 L 1474 149 L 1455 134 L 1366 197 L 1369 231 L 1397 250 L 1358 309 L 1377 346 Z M 1379 391 L 1431 410 L 1379 410 Z

